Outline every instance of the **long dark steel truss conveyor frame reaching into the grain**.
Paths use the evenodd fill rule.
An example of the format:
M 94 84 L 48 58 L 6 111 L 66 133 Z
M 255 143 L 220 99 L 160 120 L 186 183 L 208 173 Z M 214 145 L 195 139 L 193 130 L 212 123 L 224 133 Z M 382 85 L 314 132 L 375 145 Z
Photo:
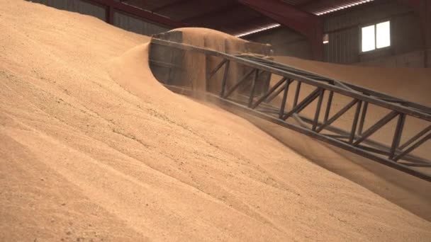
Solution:
M 372 159 L 386 166 L 391 166 L 399 171 L 404 171 L 410 175 L 415 175 L 423 180 L 431 181 L 431 175 L 422 173 L 417 169 L 410 167 L 406 163 L 401 163 L 401 160 L 410 161 L 414 164 L 431 166 L 430 157 L 426 159 L 414 156 L 412 151 L 431 139 L 431 108 L 417 103 L 412 103 L 400 98 L 394 98 L 384 93 L 372 91 L 368 88 L 356 86 L 351 83 L 344 83 L 335 79 L 330 79 L 325 76 L 313 74 L 308 71 L 296 69 L 286 64 L 280 64 L 268 59 L 262 59 L 252 56 L 241 56 L 225 54 L 215 50 L 209 50 L 202 47 L 192 45 L 185 45 L 177 42 L 170 42 L 167 40 L 152 39 L 152 45 L 163 45 L 177 50 L 191 51 L 196 53 L 205 54 L 206 56 L 219 57 L 220 63 L 207 75 L 207 79 L 212 79 L 215 73 L 223 69 L 221 79 L 221 90 L 219 95 L 213 93 L 201 93 L 206 98 L 216 100 L 225 105 L 235 108 L 237 110 L 245 111 L 254 116 L 263 118 L 270 122 L 274 122 L 283 127 L 293 129 L 296 132 L 306 134 L 310 137 L 320 141 L 332 144 L 339 148 L 351 151 L 354 154 L 359 154 L 368 159 Z M 237 83 L 227 88 L 228 71 L 230 63 L 237 63 L 251 69 L 245 76 L 243 76 Z M 224 67 L 224 68 L 222 68 Z M 269 88 L 266 93 L 257 95 L 255 87 L 257 86 L 258 76 L 264 72 L 269 72 L 281 76 L 281 80 L 274 86 Z M 252 78 L 250 78 L 252 76 Z M 289 86 L 293 81 L 297 81 L 295 96 L 293 98 L 292 108 L 288 111 L 286 108 L 286 100 L 289 92 Z M 242 98 L 234 100 L 231 98 L 234 91 L 241 85 L 249 82 L 250 93 Z M 299 100 L 299 93 L 301 83 L 306 83 L 314 86 L 315 89 L 306 98 Z M 183 93 L 189 96 L 196 96 L 196 91 L 189 88 L 180 86 L 169 86 L 167 88 L 177 93 Z M 329 96 L 325 100 L 325 110 L 322 110 L 324 95 L 328 92 Z M 282 93 L 282 101 L 279 106 L 269 104 L 269 102 L 276 96 Z M 337 113 L 330 115 L 332 106 L 332 97 L 334 94 L 340 94 L 352 98 L 350 103 L 347 103 Z M 301 115 L 301 110 L 307 108 L 314 100 L 317 101 L 315 105 L 315 115 L 313 118 L 304 117 Z M 367 118 L 367 110 L 369 105 L 376 105 L 389 111 L 387 115 L 371 125 L 368 129 L 364 130 L 364 122 Z M 354 117 L 352 127 L 349 130 L 340 129 L 332 124 L 345 115 L 348 110 L 354 108 Z M 322 113 L 322 114 L 321 114 Z M 323 116 L 321 116 L 323 115 Z M 323 117 L 323 118 L 322 118 Z M 401 144 L 401 136 L 405 128 L 406 117 L 415 117 L 426 122 L 426 126 L 418 134 L 414 135 L 403 144 Z M 287 122 L 288 118 L 294 118 L 296 122 Z M 379 131 L 391 120 L 397 120 L 395 127 L 393 127 L 393 137 L 391 145 L 386 145 L 381 142 L 369 139 L 369 137 Z M 320 121 L 323 120 L 323 121 Z M 333 134 L 323 134 L 323 129 L 326 129 Z M 431 154 L 431 151 L 430 151 Z

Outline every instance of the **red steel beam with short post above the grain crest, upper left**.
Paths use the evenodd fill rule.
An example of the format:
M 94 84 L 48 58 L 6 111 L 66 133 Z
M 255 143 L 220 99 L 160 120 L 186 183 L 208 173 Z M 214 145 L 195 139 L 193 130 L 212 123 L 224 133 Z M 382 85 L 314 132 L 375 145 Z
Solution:
M 126 14 L 130 14 L 132 16 L 145 19 L 152 23 L 159 23 L 169 28 L 181 28 L 185 27 L 183 23 L 179 23 L 177 21 L 172 20 L 171 18 L 167 18 L 164 16 L 157 15 L 155 13 L 151 13 L 150 11 L 145 11 L 141 8 L 136 8 L 134 6 L 130 6 L 127 4 L 123 4 L 119 1 L 113 0 L 84 0 L 88 1 L 92 4 L 97 4 L 104 6 L 106 8 L 106 22 L 113 23 L 113 12 L 121 11 Z

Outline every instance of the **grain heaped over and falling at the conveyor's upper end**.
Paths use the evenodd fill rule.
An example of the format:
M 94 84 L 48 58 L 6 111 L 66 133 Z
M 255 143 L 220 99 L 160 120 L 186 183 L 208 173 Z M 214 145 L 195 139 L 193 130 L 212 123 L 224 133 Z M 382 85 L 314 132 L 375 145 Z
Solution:
M 170 32 L 168 34 L 181 33 L 181 42 L 186 45 L 194 45 L 228 54 L 247 53 L 252 50 L 256 50 L 262 54 L 264 47 L 262 44 L 257 45 L 256 43 L 236 38 L 233 35 L 208 28 L 178 28 Z M 165 53 L 163 54 L 166 55 Z M 155 55 L 162 55 L 162 53 L 155 53 Z M 217 71 L 213 77 L 208 78 L 209 73 L 220 64 L 220 57 L 213 57 L 197 52 L 181 52 L 181 54 L 176 53 L 174 58 L 181 58 L 180 61 L 174 60 L 177 64 L 181 63 L 181 71 L 178 71 L 179 73 L 175 77 L 175 85 L 186 86 L 196 91 L 220 93 L 221 81 L 219 80 L 223 78 L 225 67 L 222 67 L 222 71 Z M 226 83 L 227 89 L 235 85 L 237 79 L 240 79 L 248 71 L 250 69 L 246 69 L 235 62 L 230 62 Z

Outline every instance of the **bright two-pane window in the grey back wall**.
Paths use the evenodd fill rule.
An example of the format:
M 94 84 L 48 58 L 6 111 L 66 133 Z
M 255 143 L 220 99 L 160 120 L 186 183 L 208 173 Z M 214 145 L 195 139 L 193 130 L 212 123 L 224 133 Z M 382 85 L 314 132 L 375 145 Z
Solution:
M 386 21 L 362 28 L 362 52 L 391 46 L 391 22 Z

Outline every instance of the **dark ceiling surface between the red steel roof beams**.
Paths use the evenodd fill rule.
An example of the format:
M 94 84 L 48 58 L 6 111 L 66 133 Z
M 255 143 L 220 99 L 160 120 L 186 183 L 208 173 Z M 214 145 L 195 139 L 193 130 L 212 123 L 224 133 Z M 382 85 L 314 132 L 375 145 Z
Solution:
M 121 0 L 122 4 L 164 16 L 185 26 L 204 27 L 220 30 L 232 35 L 245 35 L 257 30 L 274 28 L 278 21 L 270 18 L 257 8 L 247 6 L 237 0 Z M 267 4 L 268 1 L 258 1 Z M 337 8 L 347 8 L 367 1 L 345 0 L 284 0 L 279 4 L 295 8 L 297 11 L 314 16 Z M 297 12 L 286 14 L 295 15 Z M 299 20 L 301 21 L 301 20 Z

